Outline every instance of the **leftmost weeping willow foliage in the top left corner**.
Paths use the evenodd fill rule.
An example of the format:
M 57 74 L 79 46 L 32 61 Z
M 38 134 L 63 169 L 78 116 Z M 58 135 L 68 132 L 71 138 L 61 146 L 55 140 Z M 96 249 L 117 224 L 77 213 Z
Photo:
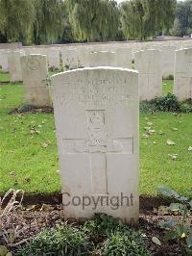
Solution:
M 8 40 L 52 42 L 61 38 L 62 0 L 0 0 L 0 32 Z

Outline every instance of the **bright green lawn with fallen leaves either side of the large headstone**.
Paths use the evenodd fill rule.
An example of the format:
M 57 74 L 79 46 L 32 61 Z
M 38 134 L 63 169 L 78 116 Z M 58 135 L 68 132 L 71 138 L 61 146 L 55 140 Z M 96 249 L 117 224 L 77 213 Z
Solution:
M 0 86 L 0 99 L 0 193 L 10 188 L 27 193 L 60 192 L 54 116 L 8 115 L 23 104 L 21 84 Z M 148 122 L 156 133 L 144 139 Z M 187 194 L 192 184 L 191 123 L 191 114 L 140 115 L 140 194 L 156 195 L 160 184 Z M 167 139 L 176 145 L 167 145 Z M 43 147 L 47 140 L 51 143 Z M 178 159 L 173 161 L 169 154 L 178 154 Z

